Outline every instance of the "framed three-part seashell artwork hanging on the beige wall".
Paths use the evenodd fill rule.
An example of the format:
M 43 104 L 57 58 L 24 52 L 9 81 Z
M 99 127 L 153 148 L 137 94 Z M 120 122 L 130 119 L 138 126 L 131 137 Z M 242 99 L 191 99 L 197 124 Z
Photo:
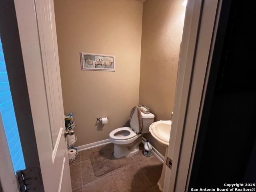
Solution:
M 81 70 L 115 71 L 116 56 L 80 52 Z

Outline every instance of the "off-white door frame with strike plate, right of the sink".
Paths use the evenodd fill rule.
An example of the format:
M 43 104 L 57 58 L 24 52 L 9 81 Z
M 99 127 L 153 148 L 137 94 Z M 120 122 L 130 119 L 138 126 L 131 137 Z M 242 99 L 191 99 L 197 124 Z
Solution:
M 188 191 L 222 0 L 189 0 L 186 7 L 164 191 Z

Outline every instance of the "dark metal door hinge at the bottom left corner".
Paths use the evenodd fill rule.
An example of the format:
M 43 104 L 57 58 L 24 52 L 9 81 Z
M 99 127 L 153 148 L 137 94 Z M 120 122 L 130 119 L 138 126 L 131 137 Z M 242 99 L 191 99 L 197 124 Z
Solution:
M 16 171 L 21 192 L 36 192 L 42 187 L 40 171 L 37 167 Z

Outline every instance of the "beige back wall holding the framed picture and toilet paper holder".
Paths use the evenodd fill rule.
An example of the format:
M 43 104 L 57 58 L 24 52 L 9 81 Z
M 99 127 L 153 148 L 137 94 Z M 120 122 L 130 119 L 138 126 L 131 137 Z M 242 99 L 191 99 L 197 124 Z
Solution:
M 76 146 L 107 139 L 138 105 L 142 3 L 54 0 L 64 112 L 76 120 Z M 116 55 L 116 72 L 82 71 L 79 52 Z M 97 117 L 109 123 L 97 126 Z

